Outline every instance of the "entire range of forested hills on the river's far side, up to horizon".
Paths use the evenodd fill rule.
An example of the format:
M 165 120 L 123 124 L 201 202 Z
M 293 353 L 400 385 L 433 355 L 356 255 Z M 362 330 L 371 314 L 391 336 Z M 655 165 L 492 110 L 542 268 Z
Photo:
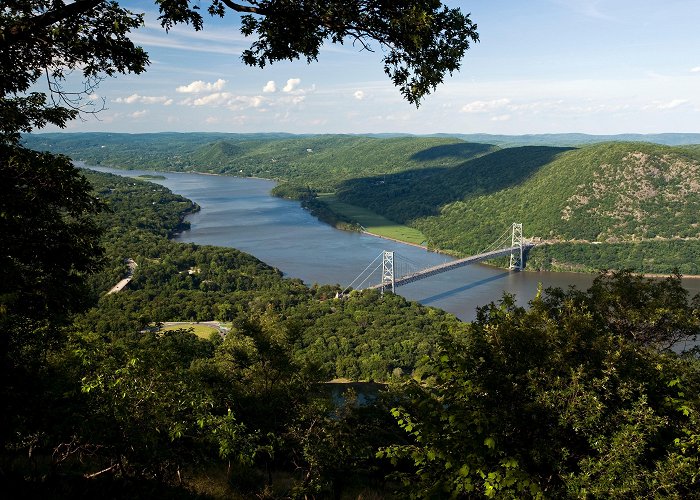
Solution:
M 500 148 L 452 137 L 203 133 L 42 134 L 26 141 L 92 164 L 259 176 L 333 192 L 456 254 L 481 250 L 520 221 L 526 237 L 547 243 L 531 252 L 531 269 L 700 274 L 697 145 Z

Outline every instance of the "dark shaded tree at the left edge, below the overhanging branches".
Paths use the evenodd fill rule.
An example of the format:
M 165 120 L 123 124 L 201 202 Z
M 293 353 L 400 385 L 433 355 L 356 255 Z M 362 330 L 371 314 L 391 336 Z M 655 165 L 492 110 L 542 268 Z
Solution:
M 0 144 L 0 443 L 101 262 L 101 204 L 70 159 Z M 21 420 L 21 418 L 20 418 Z

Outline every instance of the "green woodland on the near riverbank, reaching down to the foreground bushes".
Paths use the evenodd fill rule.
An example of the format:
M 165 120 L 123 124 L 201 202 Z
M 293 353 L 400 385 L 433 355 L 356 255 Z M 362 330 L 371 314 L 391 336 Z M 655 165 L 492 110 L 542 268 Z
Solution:
M 121 252 L 139 267 L 72 327 L 52 320 L 52 343 L 8 353 L 0 479 L 18 492 L 190 496 L 168 488 L 216 470 L 221 496 L 389 495 L 391 478 L 399 497 L 698 495 L 700 366 L 669 347 L 697 335 L 700 304 L 678 276 L 604 275 L 527 310 L 506 297 L 467 325 L 392 294 L 335 300 L 235 250 L 168 241 L 191 203 L 90 177 L 110 208 L 108 276 L 92 285 L 108 288 Z M 140 331 L 161 304 L 233 329 Z M 319 383 L 409 373 L 366 407 Z

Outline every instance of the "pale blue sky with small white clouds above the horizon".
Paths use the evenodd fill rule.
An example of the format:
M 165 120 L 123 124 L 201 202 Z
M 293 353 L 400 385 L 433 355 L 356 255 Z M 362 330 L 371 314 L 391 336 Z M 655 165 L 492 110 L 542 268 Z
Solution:
M 145 13 L 132 39 L 151 64 L 103 81 L 93 97 L 106 109 L 67 131 L 700 132 L 698 0 L 443 2 L 470 13 L 480 41 L 418 109 L 384 74 L 376 44 L 251 68 L 233 12 L 166 33 L 152 2 L 120 3 Z

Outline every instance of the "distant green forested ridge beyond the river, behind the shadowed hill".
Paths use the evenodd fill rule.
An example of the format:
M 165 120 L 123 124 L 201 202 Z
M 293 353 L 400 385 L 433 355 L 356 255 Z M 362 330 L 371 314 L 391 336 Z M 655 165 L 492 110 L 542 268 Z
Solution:
M 40 134 L 25 142 L 92 165 L 266 177 L 323 189 L 346 179 L 455 166 L 498 149 L 455 138 L 285 134 Z

